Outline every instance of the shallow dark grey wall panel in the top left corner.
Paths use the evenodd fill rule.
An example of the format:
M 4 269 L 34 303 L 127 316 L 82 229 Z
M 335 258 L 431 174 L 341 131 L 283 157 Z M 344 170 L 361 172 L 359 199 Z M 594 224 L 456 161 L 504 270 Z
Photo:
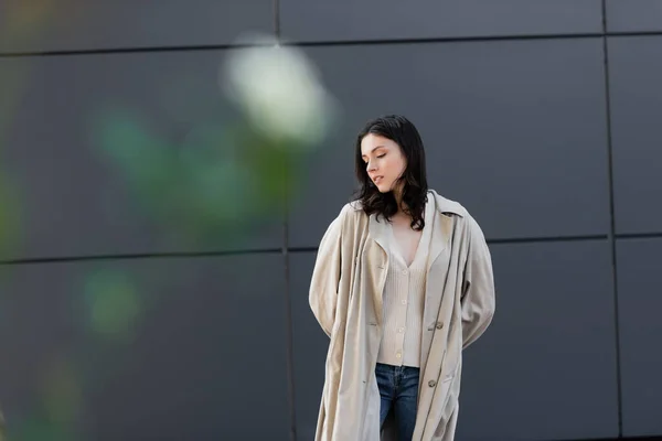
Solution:
M 273 17 L 271 0 L 0 0 L 0 52 L 228 44 Z

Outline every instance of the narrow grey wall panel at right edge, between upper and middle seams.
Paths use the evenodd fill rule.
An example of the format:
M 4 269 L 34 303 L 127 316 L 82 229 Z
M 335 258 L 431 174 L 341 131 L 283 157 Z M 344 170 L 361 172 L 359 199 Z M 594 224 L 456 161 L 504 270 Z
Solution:
M 662 230 L 662 36 L 609 39 L 617 233 Z

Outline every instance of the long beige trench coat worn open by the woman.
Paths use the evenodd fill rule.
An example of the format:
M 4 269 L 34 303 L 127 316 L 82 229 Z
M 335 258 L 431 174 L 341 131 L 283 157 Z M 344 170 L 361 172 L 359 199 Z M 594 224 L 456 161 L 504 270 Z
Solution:
M 457 202 L 430 191 L 436 206 L 425 293 L 415 441 L 451 441 L 458 419 L 462 349 L 494 314 L 494 281 L 483 233 Z M 317 441 L 396 440 L 380 431 L 375 377 L 382 294 L 388 268 L 385 224 L 346 204 L 319 247 L 309 300 L 330 336 Z

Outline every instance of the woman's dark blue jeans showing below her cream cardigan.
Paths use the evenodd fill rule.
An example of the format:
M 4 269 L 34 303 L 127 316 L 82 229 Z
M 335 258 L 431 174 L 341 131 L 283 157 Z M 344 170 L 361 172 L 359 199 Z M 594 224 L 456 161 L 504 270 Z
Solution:
M 382 397 L 380 427 L 384 426 L 384 420 L 393 407 L 398 441 L 410 441 L 416 424 L 419 369 L 377 363 L 375 376 Z

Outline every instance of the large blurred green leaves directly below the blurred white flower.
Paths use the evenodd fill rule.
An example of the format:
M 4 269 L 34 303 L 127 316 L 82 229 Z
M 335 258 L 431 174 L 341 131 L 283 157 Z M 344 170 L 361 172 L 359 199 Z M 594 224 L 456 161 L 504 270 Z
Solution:
M 236 241 L 254 222 L 282 219 L 303 153 L 245 122 L 201 122 L 180 143 L 129 110 L 106 112 L 96 139 L 158 227 L 194 244 Z

